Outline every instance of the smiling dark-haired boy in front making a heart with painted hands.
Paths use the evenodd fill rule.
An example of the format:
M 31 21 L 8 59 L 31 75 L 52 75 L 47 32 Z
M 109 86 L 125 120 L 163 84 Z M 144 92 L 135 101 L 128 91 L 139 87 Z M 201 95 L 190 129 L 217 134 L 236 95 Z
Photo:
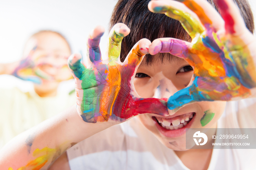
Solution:
M 124 20 L 124 23 L 125 19 L 127 19 L 128 22 L 139 21 L 139 23 L 128 24 L 131 28 L 132 26 L 144 26 L 143 24 L 145 23 L 142 23 L 143 21 L 149 21 L 153 24 L 161 18 L 160 15 L 152 17 L 147 13 L 144 8 L 147 5 L 146 1 L 133 1 L 131 4 L 128 2 L 130 1 L 119 1 L 116 10 L 119 12 L 120 10 L 118 9 L 122 8 L 123 10 L 120 13 L 114 13 L 114 15 L 117 16 L 117 18 L 120 17 L 122 21 Z M 184 4 L 172 0 L 159 0 L 151 1 L 148 7 L 151 11 L 163 12 L 166 15 L 180 20 L 191 36 L 192 44 L 172 38 L 157 39 L 151 44 L 147 39 L 142 39 L 133 46 L 132 51 L 128 54 L 123 63 L 118 60 L 120 43 L 123 37 L 128 35 L 129 29 L 125 27 L 124 24 L 120 23 L 114 26 L 110 32 L 109 61 L 102 61 L 98 44 L 103 29 L 97 27 L 94 32 L 91 33 L 88 40 L 89 59 L 87 63 L 84 64 L 85 67 L 80 63 L 81 56 L 79 55 L 73 55 L 69 60 L 69 67 L 76 78 L 76 108 L 73 107 L 53 119 L 47 120 L 37 127 L 26 131 L 16 138 L 16 141 L 19 140 L 19 142 L 12 141 L 6 145 L 0 153 L 0 167 L 3 169 L 41 169 L 41 167 L 47 169 L 65 150 L 75 143 L 88 138 L 68 150 L 68 159 L 71 169 L 198 170 L 255 168 L 255 165 L 253 165 L 255 153 L 253 153 L 252 150 L 185 149 L 184 138 L 186 128 L 216 128 L 217 121 L 218 128 L 255 127 L 255 124 L 245 123 L 245 121 L 249 122 L 249 120 L 255 119 L 253 111 L 250 111 L 250 109 L 255 106 L 254 99 L 248 99 L 246 102 L 241 100 L 240 102 L 229 103 L 205 101 L 218 99 L 218 96 L 214 93 L 208 93 L 206 95 L 209 91 L 218 92 L 221 96 L 230 97 L 219 98 L 218 100 L 233 99 L 237 97 L 237 95 L 240 95 L 241 98 L 245 98 L 245 93 L 247 96 L 253 97 L 255 86 L 251 79 L 253 80 L 255 78 L 255 70 L 253 70 L 255 38 L 248 29 L 245 28 L 241 16 L 237 15 L 238 9 L 236 9 L 236 6 L 229 0 L 218 1 L 219 6 L 220 4 L 225 6 L 224 9 L 221 8 L 220 10 L 225 22 L 218 13 L 203 0 L 185 0 Z M 242 3 L 238 2 L 238 4 L 246 5 L 244 1 Z M 131 11 L 131 9 L 128 10 L 130 7 L 131 9 L 135 9 L 135 11 Z M 193 9 L 194 13 L 190 9 Z M 248 10 L 249 8 L 245 9 Z M 182 13 L 181 10 L 187 13 Z M 128 12 L 129 15 L 123 17 L 125 15 L 123 15 L 122 12 Z M 140 17 L 139 13 L 142 13 L 143 17 Z M 206 15 L 203 15 L 204 13 Z M 132 20 L 129 18 L 131 14 L 135 16 L 135 18 L 138 18 Z M 234 21 L 233 25 L 232 22 L 227 22 L 227 18 Z M 167 25 L 171 26 L 172 24 L 167 23 Z M 191 27 L 192 25 L 193 27 Z M 231 27 L 231 25 L 233 27 Z M 150 26 L 149 24 L 149 27 Z M 148 27 L 148 25 L 145 27 Z M 155 27 L 152 26 L 150 31 L 153 31 L 153 28 Z M 170 27 L 166 28 L 159 25 L 159 27 L 155 29 L 158 29 L 159 33 L 164 33 L 163 31 L 159 31 L 159 29 L 168 30 Z M 211 30 L 214 31 L 210 32 Z M 233 40 L 234 33 L 236 33 L 237 30 L 240 32 L 239 35 L 236 35 L 236 38 L 239 37 L 240 41 L 230 41 Z M 134 36 L 130 37 L 132 40 L 137 38 L 137 34 L 138 36 L 140 35 L 140 30 L 137 31 Z M 180 31 L 176 33 L 180 33 Z M 208 34 L 206 35 L 206 33 Z M 147 34 L 145 33 L 145 35 Z M 155 34 L 152 35 L 155 36 Z M 247 45 L 239 48 L 239 50 L 246 49 L 251 52 L 251 55 L 247 55 L 248 51 L 242 51 L 242 56 L 246 56 L 246 59 L 252 59 L 251 62 L 248 63 L 248 66 L 251 67 L 252 70 L 250 70 L 249 75 L 246 77 L 246 83 L 242 82 L 242 80 L 245 79 L 241 76 L 239 79 L 242 83 L 237 81 L 238 78 L 234 78 L 232 80 L 236 81 L 237 84 L 231 86 L 231 84 L 229 84 L 231 80 L 228 79 L 226 74 L 222 74 L 222 72 L 219 71 L 225 70 L 228 67 L 224 65 L 225 63 L 222 63 L 223 66 L 215 62 L 216 66 L 219 67 L 215 68 L 214 64 L 208 64 L 204 67 L 205 70 L 203 68 L 198 69 L 202 64 L 218 61 L 215 55 L 223 54 L 221 51 L 218 53 L 215 52 L 218 48 L 212 45 L 214 44 L 213 39 L 210 39 L 212 41 L 207 43 L 209 42 L 207 41 L 209 40 L 207 37 L 211 35 L 218 37 L 218 39 L 214 39 L 215 41 L 219 40 L 222 42 L 226 40 L 226 42 L 229 42 L 230 49 L 232 49 L 231 47 L 234 45 L 240 45 L 239 43 L 245 43 Z M 143 36 L 142 34 L 142 37 Z M 184 39 L 186 38 L 186 36 L 183 37 Z M 189 40 L 189 38 L 185 40 Z M 202 41 L 204 43 L 202 43 Z M 225 49 L 225 44 L 223 45 L 220 42 L 217 44 L 219 49 Z M 129 42 L 125 47 L 130 47 Z M 202 53 L 197 53 L 197 48 L 201 50 Z M 187 51 L 189 51 L 189 53 L 187 53 Z M 147 62 L 146 58 L 146 60 L 143 60 L 143 55 L 147 54 L 147 52 L 155 55 L 154 58 L 151 57 L 151 62 Z M 186 60 L 167 55 L 161 57 L 158 52 L 170 52 Z M 205 52 L 205 56 L 202 56 L 203 52 Z M 230 52 L 232 54 L 231 56 L 235 58 L 236 53 L 232 53 L 233 51 Z M 208 55 L 212 57 L 207 58 Z M 191 58 L 191 56 L 193 58 Z M 196 56 L 201 56 L 202 58 L 192 60 L 195 59 Z M 121 58 L 122 57 L 121 51 Z M 147 57 L 150 58 L 149 56 Z M 189 65 L 192 65 L 192 67 Z M 225 69 L 223 67 L 225 67 Z M 214 71 L 217 72 L 217 76 L 215 76 L 215 72 L 212 72 L 210 68 L 215 69 Z M 194 69 L 194 74 L 192 74 L 192 69 Z M 241 71 L 239 67 L 237 67 L 237 70 L 238 73 Z M 229 70 L 226 70 L 226 72 L 228 71 Z M 208 79 L 208 82 L 210 82 L 210 80 L 218 80 L 214 82 L 214 86 L 216 87 L 215 91 L 211 90 L 211 83 L 209 83 L 209 86 L 203 86 L 207 84 L 207 82 L 203 81 L 204 79 L 202 78 L 208 74 L 212 76 L 211 79 Z M 195 78 L 192 79 L 194 80 L 193 82 L 191 81 L 192 75 L 195 76 Z M 220 77 L 229 81 L 227 81 L 226 84 L 222 83 L 221 80 L 218 79 Z M 201 80 L 201 82 L 195 80 Z M 181 92 L 186 92 L 186 87 L 193 87 L 195 83 L 197 83 L 198 86 L 192 89 L 191 95 L 186 96 L 186 98 L 185 96 L 177 98 L 178 95 L 185 94 Z M 222 91 L 220 91 L 218 83 L 221 84 Z M 247 88 L 247 90 L 251 89 L 249 90 L 250 93 L 246 91 L 245 86 L 250 87 Z M 238 93 L 240 88 L 243 88 L 245 92 L 242 95 Z M 200 95 L 196 96 L 196 94 Z M 143 98 L 140 98 L 140 96 Z M 192 102 L 190 100 L 191 98 L 189 98 L 191 96 L 196 97 L 193 98 Z M 169 98 L 167 103 L 165 103 L 166 98 Z M 179 102 L 176 103 L 177 101 Z M 169 108 L 168 111 L 166 105 Z M 233 107 L 233 105 L 235 105 L 235 107 Z M 248 111 L 244 112 L 244 110 L 238 110 L 239 107 L 243 109 L 246 108 Z M 210 121 L 206 122 L 203 117 L 208 110 L 215 114 Z M 224 110 L 225 112 L 223 113 Z M 132 118 L 123 124 L 112 126 L 124 122 L 137 114 L 141 114 L 138 116 L 140 122 L 137 118 Z M 80 117 L 82 117 L 82 119 L 80 119 Z M 203 121 L 201 121 L 202 119 Z M 19 155 L 22 155 L 22 157 L 19 157 Z M 62 155 L 53 163 L 50 169 L 69 169 L 67 164 L 68 159 L 65 154 Z

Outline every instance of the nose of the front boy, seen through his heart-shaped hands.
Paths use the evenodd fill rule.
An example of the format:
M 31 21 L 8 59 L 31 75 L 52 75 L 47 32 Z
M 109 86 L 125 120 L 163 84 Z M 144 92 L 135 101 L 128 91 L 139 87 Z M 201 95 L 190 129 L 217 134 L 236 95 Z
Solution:
M 174 86 L 173 82 L 169 79 L 161 79 L 159 80 L 159 85 L 154 93 L 154 98 L 169 98 L 174 93 L 176 93 L 179 89 Z

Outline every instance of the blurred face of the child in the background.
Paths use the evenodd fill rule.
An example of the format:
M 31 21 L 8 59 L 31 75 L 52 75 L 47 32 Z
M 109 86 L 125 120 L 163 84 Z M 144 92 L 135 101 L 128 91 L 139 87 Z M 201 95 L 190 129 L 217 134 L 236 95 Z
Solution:
M 63 37 L 53 32 L 43 32 L 32 37 L 27 46 L 33 43 L 36 44 L 32 57 L 35 62 L 35 74 L 42 78 L 43 83 L 72 78 L 67 66 L 71 51 Z

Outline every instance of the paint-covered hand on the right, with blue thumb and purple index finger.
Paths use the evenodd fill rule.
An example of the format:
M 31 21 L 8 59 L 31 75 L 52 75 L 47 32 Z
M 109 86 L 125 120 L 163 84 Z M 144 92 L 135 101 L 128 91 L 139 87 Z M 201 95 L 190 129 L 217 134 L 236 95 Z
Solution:
M 256 87 L 256 39 L 232 0 L 216 0 L 221 16 L 205 0 L 151 1 L 152 12 L 179 20 L 192 42 L 173 38 L 153 41 L 149 53 L 170 52 L 194 69 L 187 88 L 167 102 L 172 110 L 194 101 L 235 100 Z

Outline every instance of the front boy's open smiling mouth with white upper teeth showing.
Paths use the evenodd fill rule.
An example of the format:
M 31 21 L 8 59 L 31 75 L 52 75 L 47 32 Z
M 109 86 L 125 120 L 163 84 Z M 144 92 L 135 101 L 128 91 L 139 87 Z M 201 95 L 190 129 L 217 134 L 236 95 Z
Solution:
M 155 121 L 165 128 L 166 130 L 177 130 L 181 128 L 186 128 L 187 124 L 193 119 L 195 112 L 190 112 L 187 114 L 175 116 L 173 118 L 162 118 L 153 116 Z

